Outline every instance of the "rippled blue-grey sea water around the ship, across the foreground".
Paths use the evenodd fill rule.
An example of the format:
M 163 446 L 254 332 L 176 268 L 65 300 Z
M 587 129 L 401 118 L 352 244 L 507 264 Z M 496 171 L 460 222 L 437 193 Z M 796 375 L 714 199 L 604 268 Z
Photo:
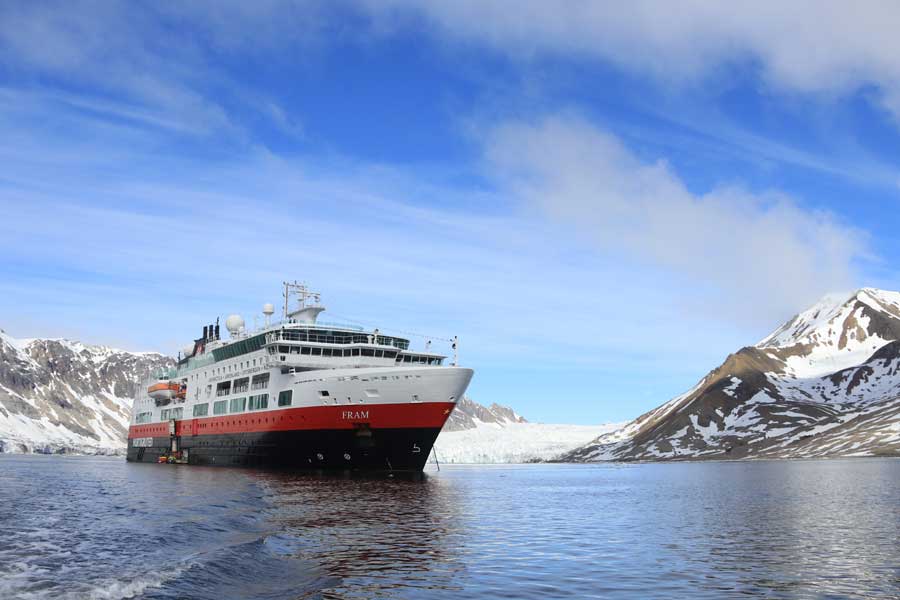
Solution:
M 421 480 L 0 456 L 0 598 L 900 598 L 900 460 Z

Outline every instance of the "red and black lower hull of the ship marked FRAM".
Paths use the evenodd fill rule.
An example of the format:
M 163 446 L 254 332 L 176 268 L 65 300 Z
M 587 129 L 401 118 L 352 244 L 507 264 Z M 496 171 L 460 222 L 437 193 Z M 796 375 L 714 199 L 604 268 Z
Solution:
M 450 402 L 331 405 L 133 425 L 127 459 L 192 465 L 421 471 Z

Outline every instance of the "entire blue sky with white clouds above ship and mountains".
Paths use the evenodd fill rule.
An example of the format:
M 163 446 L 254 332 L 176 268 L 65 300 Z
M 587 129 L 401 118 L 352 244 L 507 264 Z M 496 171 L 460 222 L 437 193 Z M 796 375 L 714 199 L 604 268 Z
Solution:
M 175 353 L 305 279 L 624 420 L 898 289 L 890 3 L 4 3 L 0 327 Z M 422 338 L 413 337 L 414 343 Z

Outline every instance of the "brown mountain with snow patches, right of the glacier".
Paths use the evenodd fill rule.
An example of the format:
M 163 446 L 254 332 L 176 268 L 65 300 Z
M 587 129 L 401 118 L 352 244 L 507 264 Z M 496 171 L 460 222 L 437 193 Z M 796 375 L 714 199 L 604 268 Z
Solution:
M 828 296 L 569 461 L 900 455 L 900 293 Z

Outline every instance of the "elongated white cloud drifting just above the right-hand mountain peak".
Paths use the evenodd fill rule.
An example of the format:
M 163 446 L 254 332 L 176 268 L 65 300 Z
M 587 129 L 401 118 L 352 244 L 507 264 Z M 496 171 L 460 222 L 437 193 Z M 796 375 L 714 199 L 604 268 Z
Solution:
M 574 224 L 608 253 L 685 277 L 699 308 L 775 323 L 856 282 L 862 234 L 777 192 L 695 194 L 664 162 L 646 163 L 576 117 L 513 123 L 489 135 L 495 176 Z M 698 298 L 694 298 L 697 301 Z

